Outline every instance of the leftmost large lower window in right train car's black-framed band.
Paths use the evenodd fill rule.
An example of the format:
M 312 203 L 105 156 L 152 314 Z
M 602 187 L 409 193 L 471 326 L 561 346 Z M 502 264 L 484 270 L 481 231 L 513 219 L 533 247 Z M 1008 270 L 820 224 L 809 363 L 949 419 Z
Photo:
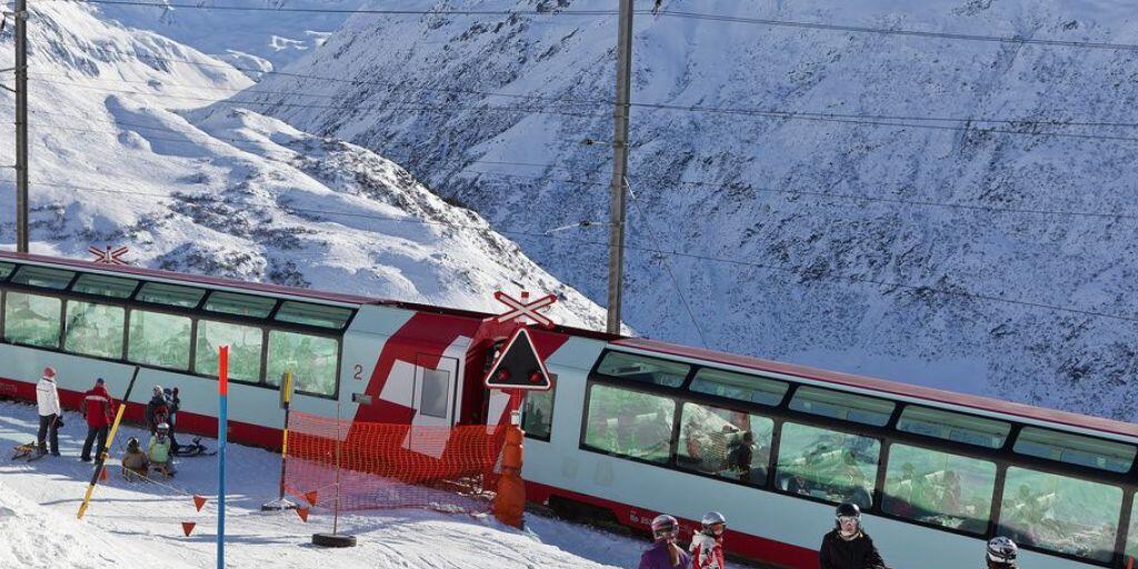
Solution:
M 588 396 L 585 444 L 601 451 L 666 463 L 671 455 L 676 402 L 594 384 Z

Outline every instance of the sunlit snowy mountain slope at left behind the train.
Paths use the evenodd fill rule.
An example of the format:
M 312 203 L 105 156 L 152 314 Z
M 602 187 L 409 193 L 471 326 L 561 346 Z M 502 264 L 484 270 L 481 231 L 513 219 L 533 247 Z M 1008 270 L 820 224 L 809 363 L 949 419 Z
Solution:
M 33 8 L 30 68 L 33 253 L 127 245 L 140 265 L 472 310 L 526 288 L 559 295 L 559 321 L 603 327 L 595 304 L 396 164 L 245 108 L 251 81 L 229 64 L 48 2 Z M 0 122 L 13 113 L 0 91 Z M 13 179 L 0 182 L 9 247 Z

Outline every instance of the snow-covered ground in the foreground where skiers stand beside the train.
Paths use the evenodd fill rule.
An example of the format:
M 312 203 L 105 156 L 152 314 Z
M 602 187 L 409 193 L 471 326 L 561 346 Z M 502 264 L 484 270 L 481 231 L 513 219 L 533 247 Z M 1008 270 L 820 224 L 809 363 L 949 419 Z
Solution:
M 8 448 L 35 438 L 31 405 L 0 402 L 0 567 L 106 569 L 107 567 L 213 567 L 216 549 L 216 456 L 181 459 L 167 483 L 129 484 L 117 476 L 101 483 L 82 521 L 75 519 L 91 476 L 79 461 L 86 434 L 82 418 L 66 414 L 63 456 L 36 462 L 8 461 Z M 124 427 L 113 444 L 118 455 L 130 436 Z M 215 442 L 204 440 L 214 447 Z M 314 509 L 307 523 L 292 512 L 263 513 L 275 497 L 280 457 L 259 448 L 230 445 L 225 505 L 226 560 L 231 568 L 603 568 L 636 567 L 644 543 L 529 513 L 519 531 L 493 518 L 426 510 L 344 514 L 340 531 L 358 546 L 323 550 L 312 534 L 330 533 L 330 512 Z M 117 475 L 118 469 L 112 472 Z M 207 496 L 199 513 L 191 496 Z M 190 537 L 183 521 L 197 522 Z

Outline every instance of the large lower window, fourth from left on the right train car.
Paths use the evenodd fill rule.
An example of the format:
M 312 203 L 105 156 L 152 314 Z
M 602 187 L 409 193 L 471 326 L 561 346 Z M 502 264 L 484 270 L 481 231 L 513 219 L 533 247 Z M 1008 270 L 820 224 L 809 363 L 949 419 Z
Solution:
M 995 488 L 992 462 L 894 444 L 881 505 L 894 516 L 981 535 Z

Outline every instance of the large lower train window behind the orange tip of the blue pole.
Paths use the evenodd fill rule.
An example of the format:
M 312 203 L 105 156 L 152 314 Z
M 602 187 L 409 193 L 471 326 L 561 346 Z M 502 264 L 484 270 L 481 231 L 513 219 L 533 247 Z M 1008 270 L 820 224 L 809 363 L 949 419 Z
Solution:
M 259 328 L 205 319 L 198 320 L 193 371 L 204 376 L 216 376 L 217 348 L 229 346 L 229 379 L 258 381 L 261 379 L 261 345 L 263 343 L 264 332 Z M 297 376 L 297 388 L 302 381 Z

